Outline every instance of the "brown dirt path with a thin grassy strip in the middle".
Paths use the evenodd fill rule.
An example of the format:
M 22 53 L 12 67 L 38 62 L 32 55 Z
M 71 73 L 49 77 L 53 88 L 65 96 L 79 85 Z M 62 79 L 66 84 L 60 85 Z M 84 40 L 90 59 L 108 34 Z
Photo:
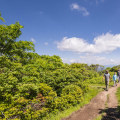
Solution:
M 85 105 L 77 112 L 73 112 L 69 117 L 62 120 L 94 120 L 100 113 L 109 108 L 111 110 L 117 107 L 116 90 L 120 87 L 112 87 L 109 91 L 100 92 L 91 102 Z M 120 115 L 119 115 L 120 116 Z M 118 119 L 103 119 L 103 120 L 120 120 Z

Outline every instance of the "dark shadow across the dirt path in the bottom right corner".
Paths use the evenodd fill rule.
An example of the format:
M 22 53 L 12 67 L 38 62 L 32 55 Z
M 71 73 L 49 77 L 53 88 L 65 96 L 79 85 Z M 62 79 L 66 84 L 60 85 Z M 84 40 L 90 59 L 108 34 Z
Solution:
M 100 114 L 101 113 L 105 113 L 105 116 L 103 116 L 101 120 L 120 120 L 120 111 L 118 111 L 118 108 L 100 110 Z

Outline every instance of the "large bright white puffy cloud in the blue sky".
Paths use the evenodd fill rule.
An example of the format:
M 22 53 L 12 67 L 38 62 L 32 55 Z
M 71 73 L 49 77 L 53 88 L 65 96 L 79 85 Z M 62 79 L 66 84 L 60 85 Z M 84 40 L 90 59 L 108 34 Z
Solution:
M 120 34 L 102 34 L 95 37 L 92 44 L 82 38 L 64 37 L 57 43 L 57 48 L 63 51 L 74 51 L 78 53 L 108 53 L 120 48 Z

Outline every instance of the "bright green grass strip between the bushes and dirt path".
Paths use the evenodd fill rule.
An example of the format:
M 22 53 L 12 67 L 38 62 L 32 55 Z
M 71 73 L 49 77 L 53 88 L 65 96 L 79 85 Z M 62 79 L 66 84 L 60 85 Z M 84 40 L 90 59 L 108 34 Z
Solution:
M 68 117 L 72 112 L 75 112 L 79 110 L 81 107 L 83 107 L 85 104 L 88 104 L 90 100 L 102 90 L 103 90 L 102 87 L 97 88 L 97 86 L 94 87 L 94 89 L 93 88 L 90 89 L 90 91 L 84 95 L 83 101 L 80 104 L 72 106 L 69 109 L 66 109 L 62 112 L 57 112 L 55 114 L 51 113 L 47 117 L 43 118 L 43 120 L 61 120 L 62 118 Z

